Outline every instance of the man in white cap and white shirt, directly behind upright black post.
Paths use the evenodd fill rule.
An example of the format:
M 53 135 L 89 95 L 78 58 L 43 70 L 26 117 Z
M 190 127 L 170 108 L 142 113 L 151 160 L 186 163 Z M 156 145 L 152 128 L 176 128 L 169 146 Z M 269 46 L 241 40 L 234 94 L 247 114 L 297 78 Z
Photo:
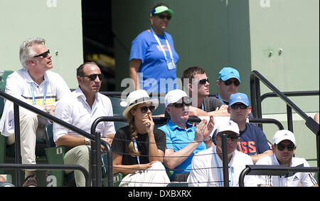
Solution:
M 239 176 L 246 165 L 253 165 L 249 155 L 236 150 L 239 142 L 239 127 L 233 120 L 221 123 L 215 135 L 216 146 L 203 150 L 192 159 L 191 172 L 188 177 L 188 186 L 194 187 L 222 187 L 223 161 L 222 161 L 222 135 L 227 134 L 229 186 L 239 186 Z M 256 177 L 247 175 L 245 186 L 257 186 Z

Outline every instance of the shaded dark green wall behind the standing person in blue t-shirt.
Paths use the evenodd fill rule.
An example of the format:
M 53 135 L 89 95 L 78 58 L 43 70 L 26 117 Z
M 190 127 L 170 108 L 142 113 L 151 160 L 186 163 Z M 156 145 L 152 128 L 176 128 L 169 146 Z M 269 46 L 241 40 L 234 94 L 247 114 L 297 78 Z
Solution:
M 129 77 L 129 51 L 132 40 L 150 28 L 149 10 L 158 1 L 112 1 L 112 29 L 116 36 L 117 90 Z M 191 66 L 201 66 L 210 78 L 210 92 L 216 93 L 215 81 L 223 66 L 240 71 L 240 91 L 249 93 L 250 30 L 247 1 L 164 1 L 174 11 L 166 30 L 174 38 L 180 57 L 177 76 Z M 228 3 L 228 4 L 227 4 Z

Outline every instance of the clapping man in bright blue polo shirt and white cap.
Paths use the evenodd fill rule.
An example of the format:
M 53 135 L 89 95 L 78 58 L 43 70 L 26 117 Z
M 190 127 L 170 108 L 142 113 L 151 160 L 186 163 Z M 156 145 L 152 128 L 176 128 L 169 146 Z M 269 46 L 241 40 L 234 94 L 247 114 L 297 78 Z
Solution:
M 193 155 L 213 145 L 210 140 L 214 127 L 213 116 L 210 116 L 208 124 L 207 120 L 202 120 L 197 127 L 187 123 L 191 100 L 186 92 L 179 89 L 170 91 L 165 96 L 166 112 L 170 119 L 159 129 L 166 133 L 164 165 L 174 170 L 171 181 L 186 182 Z

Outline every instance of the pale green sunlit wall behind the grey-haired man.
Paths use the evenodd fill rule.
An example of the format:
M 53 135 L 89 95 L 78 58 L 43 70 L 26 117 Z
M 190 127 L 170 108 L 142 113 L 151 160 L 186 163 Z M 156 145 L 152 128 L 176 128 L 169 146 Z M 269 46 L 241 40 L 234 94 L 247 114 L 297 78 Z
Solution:
M 83 62 L 81 1 L 0 0 L 0 27 L 1 71 L 22 68 L 22 42 L 41 37 L 53 56 L 52 71 L 70 88 L 78 86 L 75 69 Z

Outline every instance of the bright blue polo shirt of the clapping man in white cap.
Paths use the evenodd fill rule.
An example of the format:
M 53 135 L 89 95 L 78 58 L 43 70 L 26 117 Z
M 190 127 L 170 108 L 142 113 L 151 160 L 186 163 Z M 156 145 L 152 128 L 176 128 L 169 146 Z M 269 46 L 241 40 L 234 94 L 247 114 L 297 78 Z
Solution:
M 166 149 L 173 149 L 174 152 L 185 148 L 186 145 L 191 143 L 194 140 L 196 133 L 196 127 L 194 127 L 192 124 L 186 123 L 186 129 L 184 129 L 178 127 L 178 125 L 174 124 L 171 120 L 168 120 L 166 125 L 162 125 L 158 129 L 166 133 Z M 183 163 L 176 166 L 174 175 L 183 172 L 190 172 L 193 155 L 201 150 L 206 150 L 205 143 L 198 145 L 196 150 L 193 150 L 193 153 L 191 153 L 190 157 L 186 158 Z M 173 178 L 174 175 L 172 175 L 171 178 Z

